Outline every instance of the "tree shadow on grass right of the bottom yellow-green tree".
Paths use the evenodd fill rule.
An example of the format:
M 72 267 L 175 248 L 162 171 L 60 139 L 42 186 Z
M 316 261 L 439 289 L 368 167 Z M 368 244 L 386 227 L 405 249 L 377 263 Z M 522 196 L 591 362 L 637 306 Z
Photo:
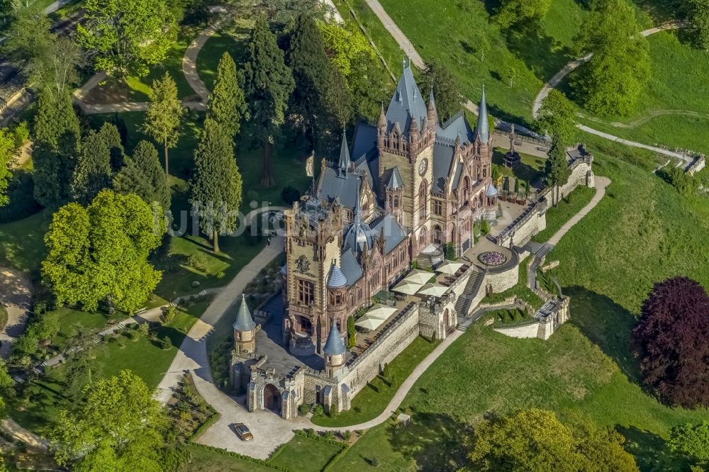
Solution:
M 669 451 L 664 439 L 657 434 L 635 426 L 615 425 L 615 429 L 625 437 L 623 447 L 635 456 L 637 466 L 642 472 L 689 470 L 690 463 L 687 459 Z

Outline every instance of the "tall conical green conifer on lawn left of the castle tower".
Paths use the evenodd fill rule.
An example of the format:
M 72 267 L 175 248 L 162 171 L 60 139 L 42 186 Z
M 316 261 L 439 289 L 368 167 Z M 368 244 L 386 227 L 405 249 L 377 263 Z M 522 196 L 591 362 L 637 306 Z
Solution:
M 219 235 L 236 229 L 242 181 L 231 140 L 211 118 L 204 120 L 194 167 L 190 203 L 199 215 L 199 227 L 211 236 L 214 252 L 219 252 Z

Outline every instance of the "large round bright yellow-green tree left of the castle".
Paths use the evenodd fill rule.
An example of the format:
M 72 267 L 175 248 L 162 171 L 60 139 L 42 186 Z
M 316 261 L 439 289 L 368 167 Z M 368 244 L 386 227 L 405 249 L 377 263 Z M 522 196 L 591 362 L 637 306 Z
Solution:
M 57 303 L 92 311 L 107 300 L 133 312 L 162 276 L 147 258 L 164 232 L 157 207 L 136 195 L 103 190 L 88 208 L 69 203 L 52 215 L 45 235 L 43 280 Z

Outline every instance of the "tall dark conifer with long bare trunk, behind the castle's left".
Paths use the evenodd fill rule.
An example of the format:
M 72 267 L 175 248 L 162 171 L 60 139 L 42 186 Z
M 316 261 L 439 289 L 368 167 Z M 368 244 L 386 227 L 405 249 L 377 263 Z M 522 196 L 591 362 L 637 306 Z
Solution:
M 261 184 L 274 184 L 271 169 L 274 136 L 284 122 L 289 96 L 294 89 L 293 74 L 284 62 L 276 35 L 259 16 L 251 33 L 249 56 L 245 68 L 245 92 L 250 116 L 262 138 L 263 176 Z

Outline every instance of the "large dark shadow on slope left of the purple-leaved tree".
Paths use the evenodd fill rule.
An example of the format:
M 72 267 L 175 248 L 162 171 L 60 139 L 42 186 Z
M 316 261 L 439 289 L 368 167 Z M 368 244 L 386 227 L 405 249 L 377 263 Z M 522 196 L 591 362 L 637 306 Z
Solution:
M 582 286 L 563 287 L 563 293 L 571 298 L 570 322 L 598 344 L 630 381 L 644 388 L 637 359 L 631 352 L 635 316 L 608 296 Z

